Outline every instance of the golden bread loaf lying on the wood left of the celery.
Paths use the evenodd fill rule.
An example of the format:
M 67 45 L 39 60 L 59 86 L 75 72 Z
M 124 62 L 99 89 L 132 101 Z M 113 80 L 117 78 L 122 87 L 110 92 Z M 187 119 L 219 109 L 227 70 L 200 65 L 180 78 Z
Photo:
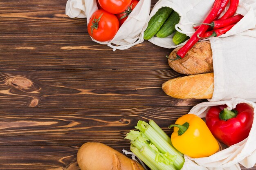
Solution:
M 77 152 L 81 170 L 145 170 L 137 161 L 101 143 L 88 142 Z

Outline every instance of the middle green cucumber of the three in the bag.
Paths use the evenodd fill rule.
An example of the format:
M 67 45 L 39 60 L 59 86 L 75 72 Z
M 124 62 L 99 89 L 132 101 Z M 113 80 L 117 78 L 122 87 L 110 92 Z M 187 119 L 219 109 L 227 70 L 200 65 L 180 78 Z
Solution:
M 180 15 L 173 11 L 169 18 L 166 20 L 166 22 L 163 24 L 161 29 L 157 32 L 156 36 L 159 38 L 166 38 L 172 33 L 174 33 L 175 30 L 175 25 L 180 22 Z

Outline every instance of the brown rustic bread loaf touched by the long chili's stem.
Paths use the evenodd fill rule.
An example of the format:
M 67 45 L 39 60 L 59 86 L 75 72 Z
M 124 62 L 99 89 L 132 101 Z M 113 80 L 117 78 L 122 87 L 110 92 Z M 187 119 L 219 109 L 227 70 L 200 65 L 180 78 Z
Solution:
M 169 58 L 175 59 L 177 51 L 174 49 Z M 213 72 L 212 51 L 209 41 L 196 43 L 182 59 L 168 60 L 169 66 L 181 74 L 194 75 Z

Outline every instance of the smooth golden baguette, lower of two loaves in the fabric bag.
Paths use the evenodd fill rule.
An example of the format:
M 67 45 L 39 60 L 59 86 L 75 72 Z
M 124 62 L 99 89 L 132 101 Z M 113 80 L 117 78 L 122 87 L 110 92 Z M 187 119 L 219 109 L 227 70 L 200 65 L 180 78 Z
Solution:
M 213 76 L 213 73 L 206 73 L 170 79 L 162 88 L 167 95 L 179 99 L 211 99 Z

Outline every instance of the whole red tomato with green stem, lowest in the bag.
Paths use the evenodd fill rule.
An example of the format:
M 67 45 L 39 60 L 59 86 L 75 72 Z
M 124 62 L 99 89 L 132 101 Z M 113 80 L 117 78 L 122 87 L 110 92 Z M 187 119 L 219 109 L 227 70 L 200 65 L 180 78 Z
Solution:
M 99 9 L 92 14 L 87 28 L 88 33 L 94 40 L 109 41 L 116 35 L 119 29 L 119 21 L 116 15 Z

